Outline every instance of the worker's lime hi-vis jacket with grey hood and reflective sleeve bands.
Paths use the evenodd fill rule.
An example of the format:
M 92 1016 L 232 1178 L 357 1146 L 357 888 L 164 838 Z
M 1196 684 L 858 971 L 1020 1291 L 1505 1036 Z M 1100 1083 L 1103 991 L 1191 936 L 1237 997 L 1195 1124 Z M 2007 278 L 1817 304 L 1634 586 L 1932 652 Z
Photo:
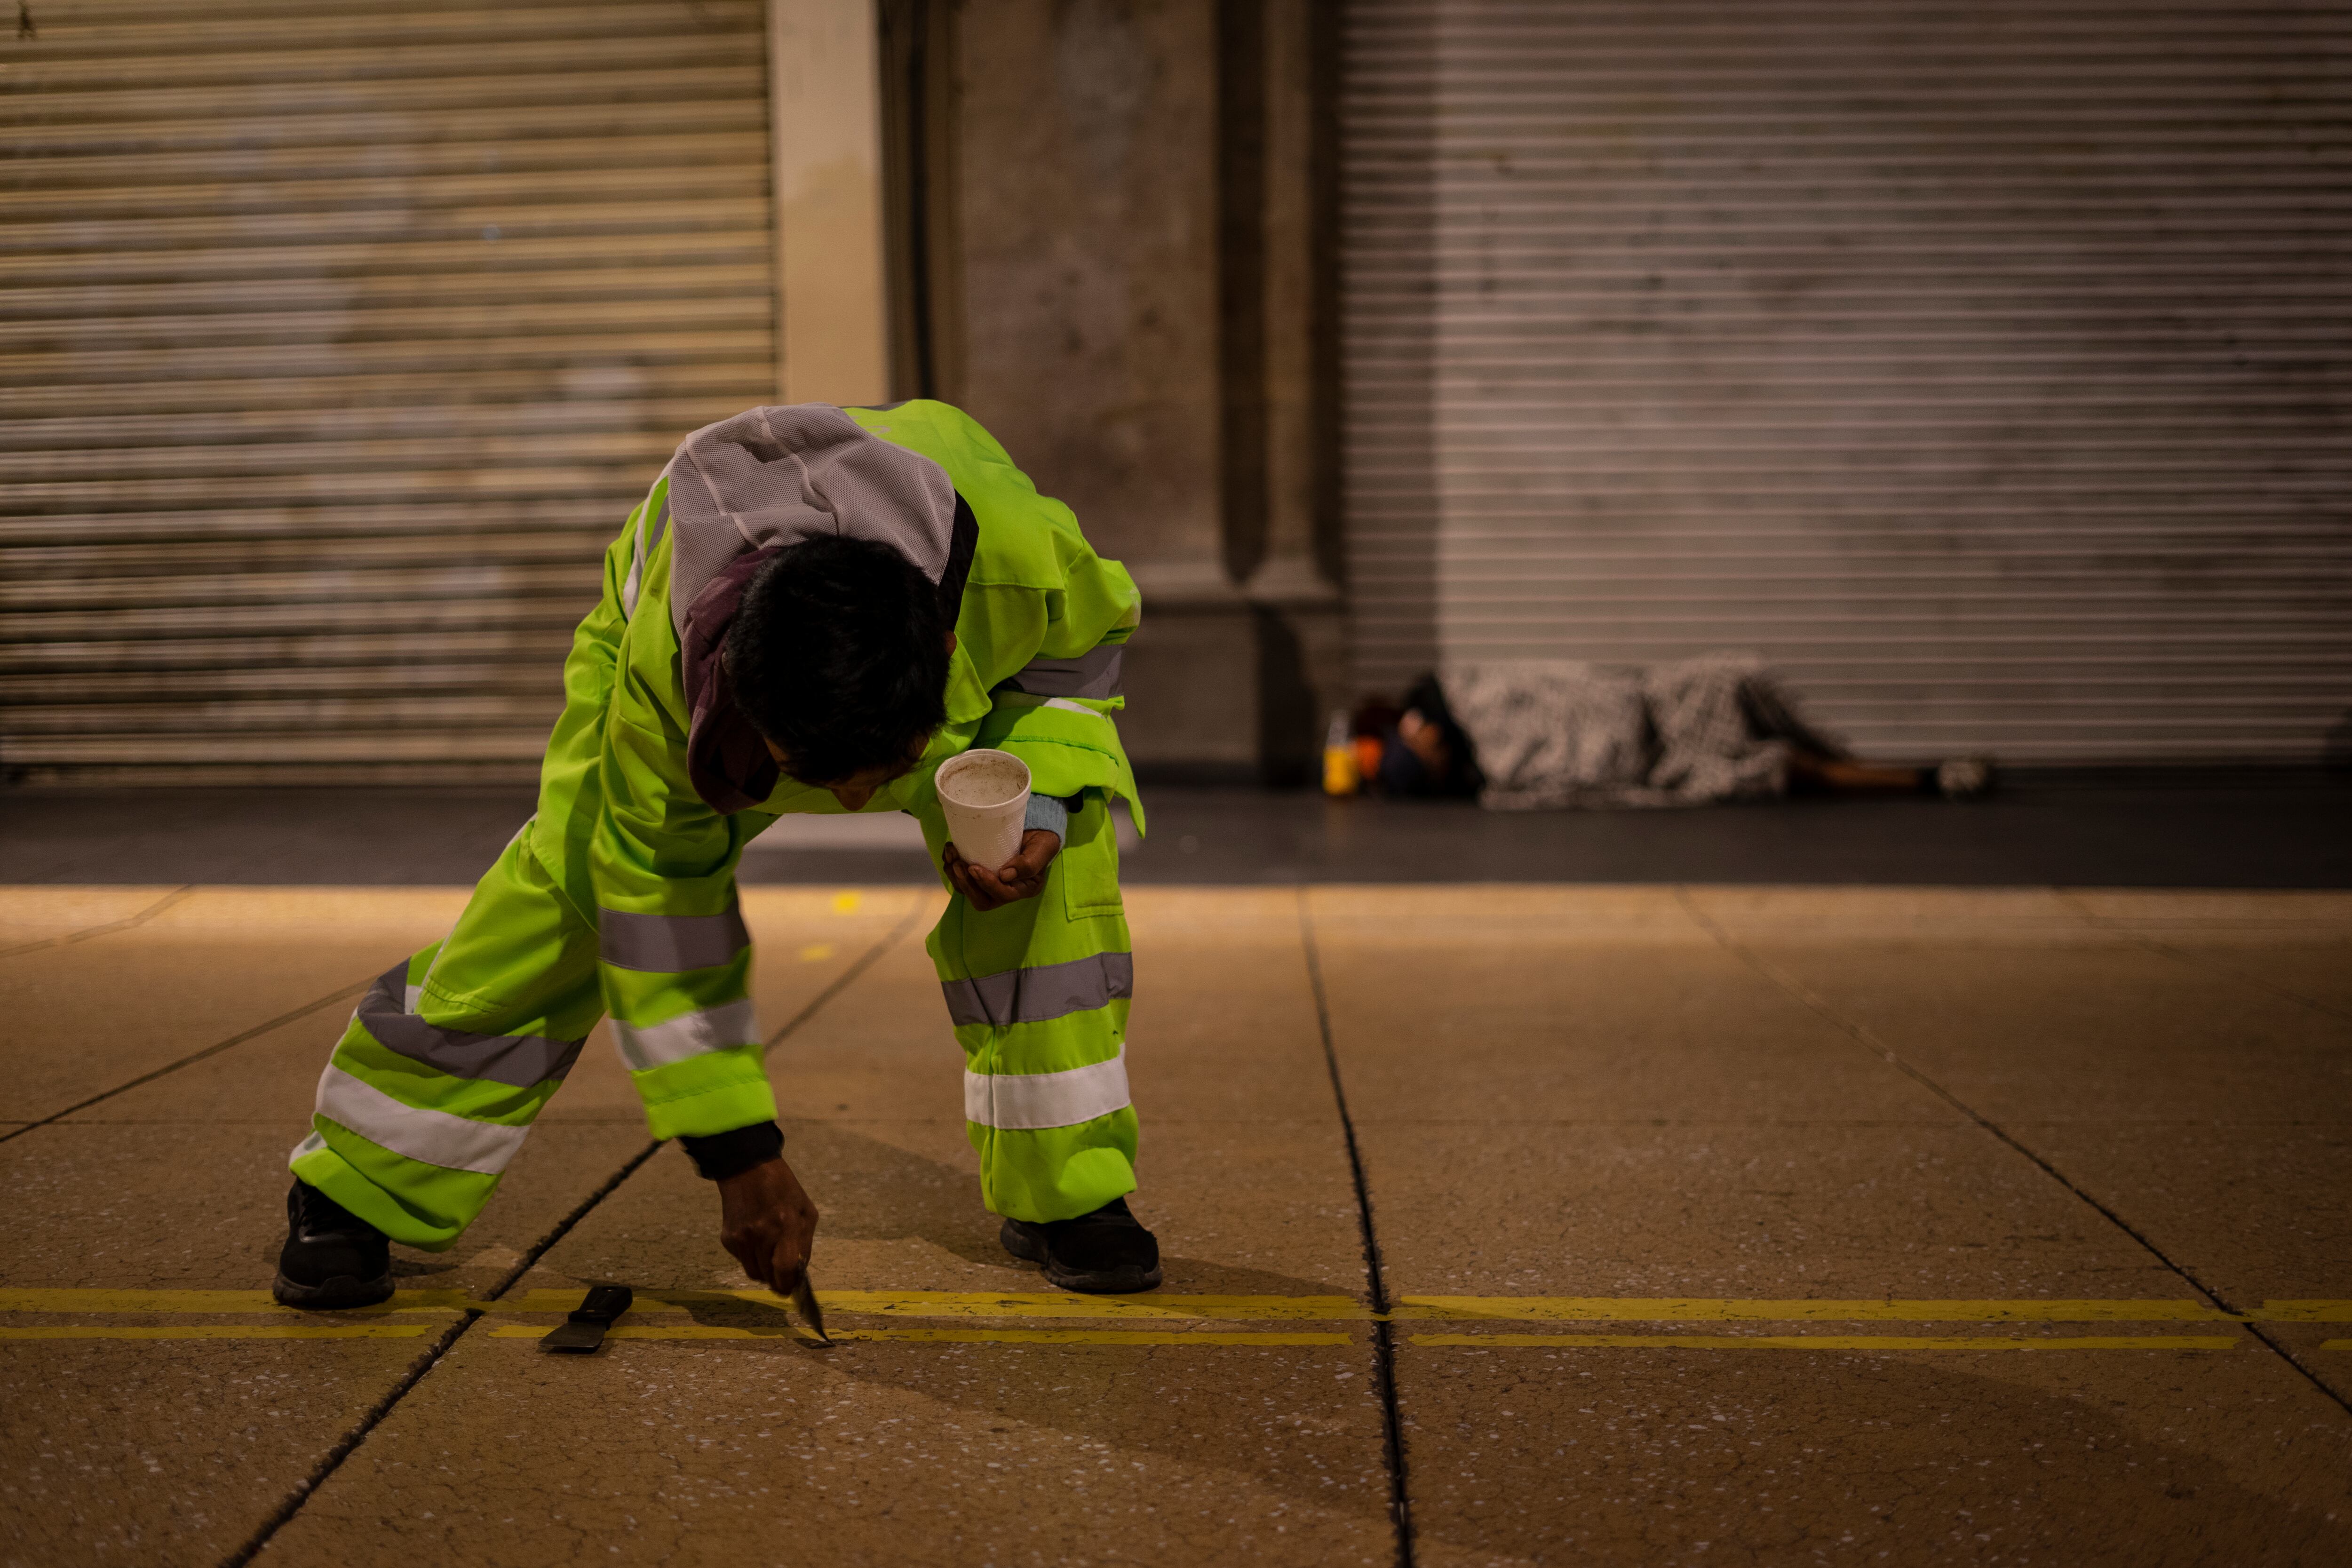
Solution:
M 995 745 L 1040 795 L 1120 795 L 1143 818 L 1110 717 L 1141 595 L 978 423 L 917 400 L 764 407 L 696 430 L 604 555 L 527 830 L 597 926 L 604 1006 L 656 1138 L 776 1114 L 736 858 L 776 816 L 840 804 L 779 778 L 717 646 L 755 557 L 818 531 L 891 543 L 953 604 L 948 722 L 868 811 L 915 813 L 936 858 L 931 773 Z

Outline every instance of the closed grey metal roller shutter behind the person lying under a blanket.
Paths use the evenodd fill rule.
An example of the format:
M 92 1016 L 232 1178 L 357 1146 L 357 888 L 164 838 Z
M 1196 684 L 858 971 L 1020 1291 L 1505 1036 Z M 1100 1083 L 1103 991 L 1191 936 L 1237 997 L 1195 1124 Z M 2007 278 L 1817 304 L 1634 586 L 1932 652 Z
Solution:
M 2352 748 L 2347 82 L 2340 2 L 1352 0 L 1357 679 L 1755 649 L 1877 757 Z

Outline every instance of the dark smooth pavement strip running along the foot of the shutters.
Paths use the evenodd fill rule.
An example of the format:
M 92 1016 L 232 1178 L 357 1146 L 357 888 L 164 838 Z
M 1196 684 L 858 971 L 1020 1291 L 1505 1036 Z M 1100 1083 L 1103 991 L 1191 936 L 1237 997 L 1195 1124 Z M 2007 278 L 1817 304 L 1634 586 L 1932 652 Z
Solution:
M 2352 776 L 2319 769 L 2018 773 L 1980 802 L 1780 799 L 1686 811 L 1479 811 L 1470 802 L 1143 790 L 1129 886 L 1708 882 L 1835 886 L 2352 886 Z M 529 790 L 0 792 L 0 886 L 473 884 Z M 788 816 L 746 884 L 938 886 L 915 823 Z

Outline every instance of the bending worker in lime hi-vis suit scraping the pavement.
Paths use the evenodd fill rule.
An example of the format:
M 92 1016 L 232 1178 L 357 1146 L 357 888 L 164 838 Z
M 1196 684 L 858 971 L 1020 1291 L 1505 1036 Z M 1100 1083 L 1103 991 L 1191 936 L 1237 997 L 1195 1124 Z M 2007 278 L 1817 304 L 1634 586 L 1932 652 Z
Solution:
M 536 816 L 449 936 L 376 980 L 320 1077 L 278 1300 L 379 1302 L 390 1241 L 452 1246 L 607 1013 L 654 1138 L 717 1185 L 727 1251 L 790 1293 L 816 1206 L 783 1159 L 734 882 L 786 811 L 922 823 L 953 886 L 929 950 L 1004 1248 L 1070 1291 L 1157 1286 L 1127 1208 L 1110 825 L 1110 797 L 1134 799 L 1110 715 L 1138 614 L 1127 569 L 948 404 L 750 409 L 689 435 L 604 550 Z M 948 844 L 931 785 L 976 745 L 1033 776 L 1002 867 Z

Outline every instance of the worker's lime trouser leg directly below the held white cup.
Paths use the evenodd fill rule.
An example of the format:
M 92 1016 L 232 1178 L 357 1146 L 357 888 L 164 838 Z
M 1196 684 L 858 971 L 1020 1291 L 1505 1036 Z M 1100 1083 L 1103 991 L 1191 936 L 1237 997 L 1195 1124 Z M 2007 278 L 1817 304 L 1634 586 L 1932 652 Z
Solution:
M 995 1213 L 1068 1220 L 1136 1187 L 1134 966 L 1117 898 L 1110 813 L 1089 799 L 1037 898 L 981 914 L 957 896 L 927 943 L 964 1048 L 964 1131 Z

